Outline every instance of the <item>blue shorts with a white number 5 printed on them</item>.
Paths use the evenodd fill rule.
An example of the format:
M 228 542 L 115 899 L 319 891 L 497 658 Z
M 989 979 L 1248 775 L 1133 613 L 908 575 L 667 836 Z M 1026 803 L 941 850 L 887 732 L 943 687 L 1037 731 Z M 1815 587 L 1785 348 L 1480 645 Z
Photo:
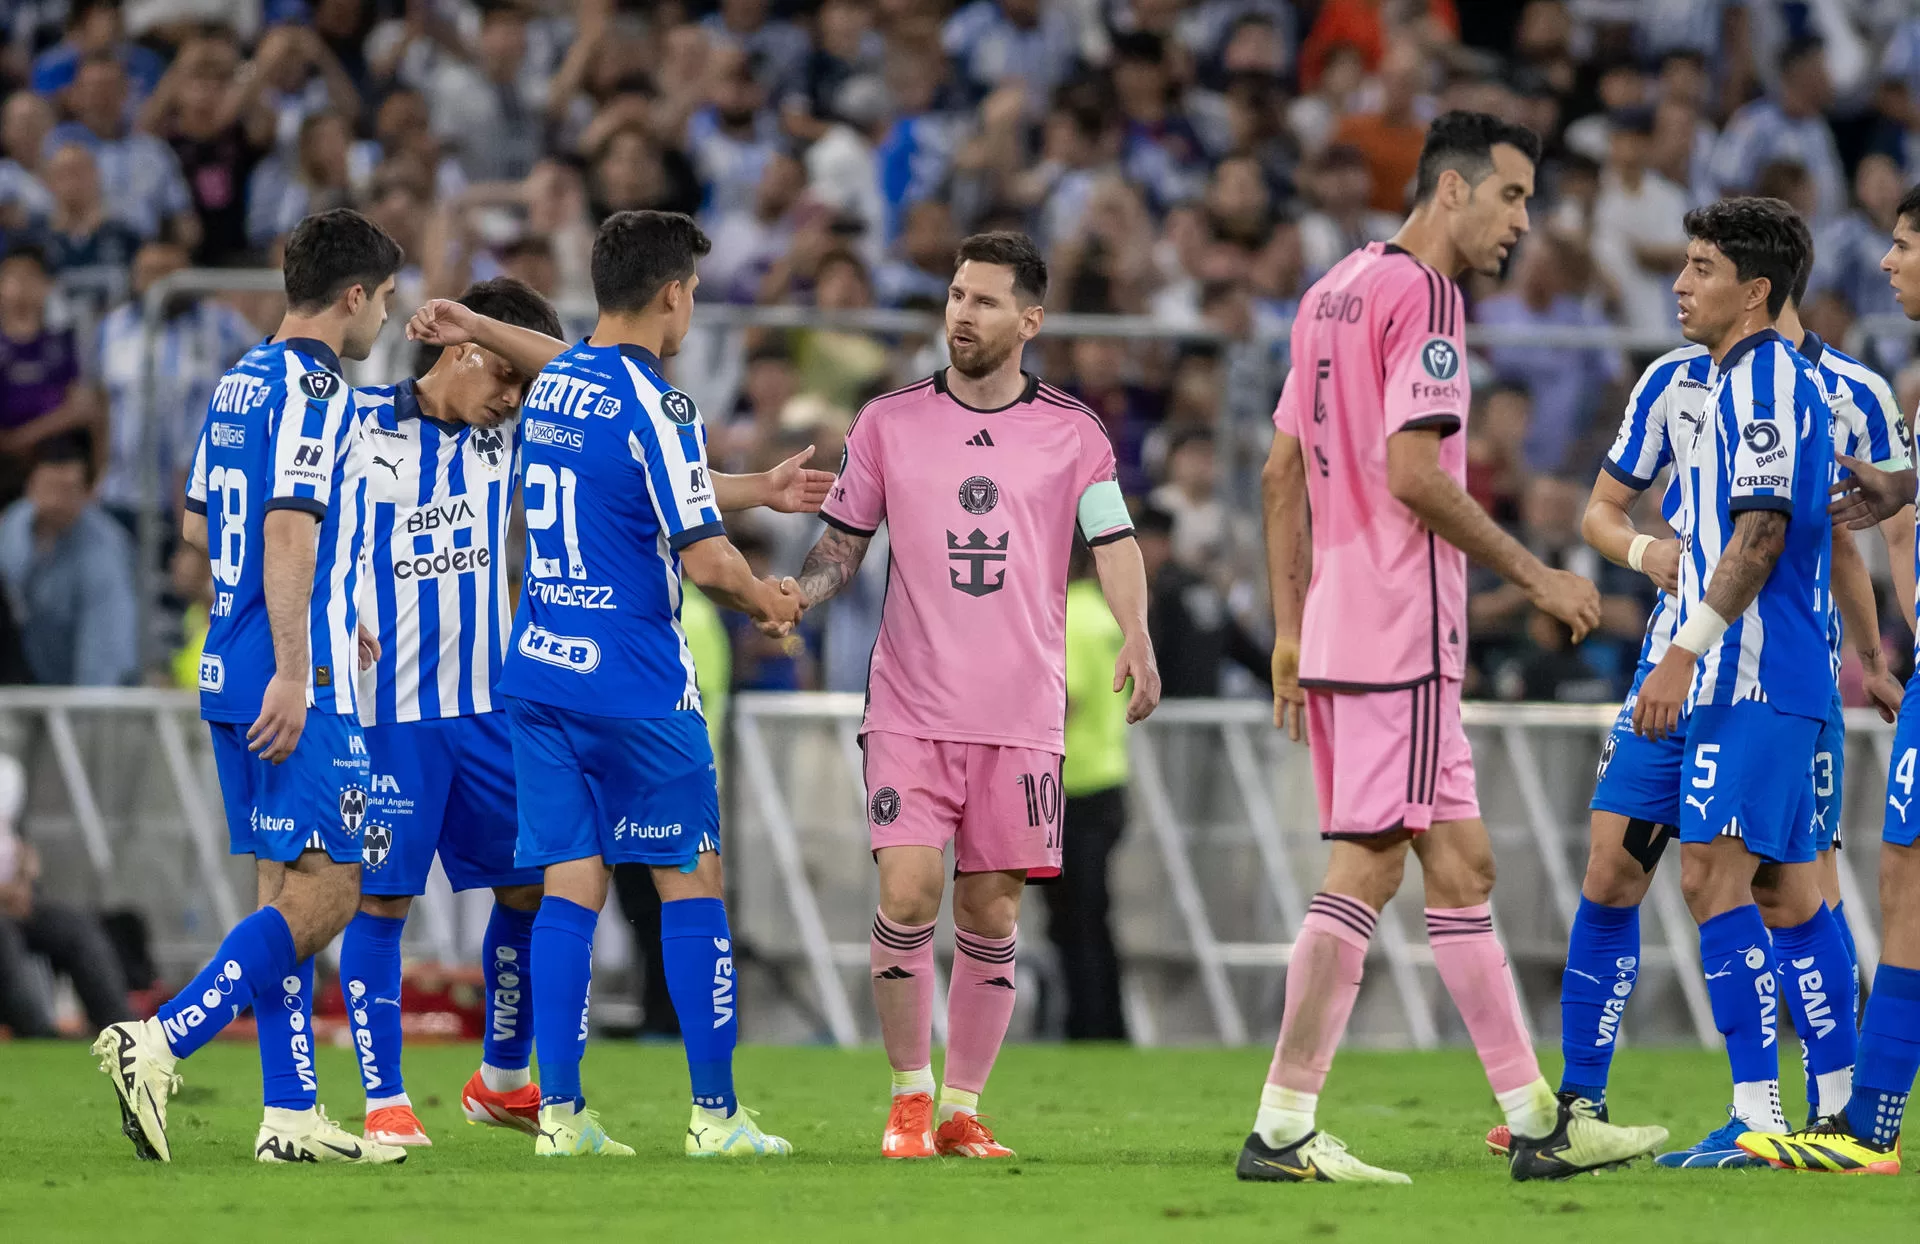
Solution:
M 1738 837 L 1772 864 L 1812 862 L 1812 751 L 1820 718 L 1761 701 L 1699 705 L 1680 774 L 1680 841 Z

